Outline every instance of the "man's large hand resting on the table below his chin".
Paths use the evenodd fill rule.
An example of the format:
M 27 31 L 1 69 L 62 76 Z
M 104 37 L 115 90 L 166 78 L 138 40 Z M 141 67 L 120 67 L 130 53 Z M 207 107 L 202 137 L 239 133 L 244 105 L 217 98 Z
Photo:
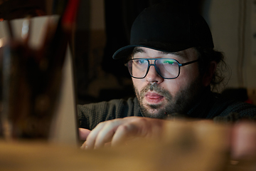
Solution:
M 159 138 L 164 122 L 166 121 L 134 116 L 108 120 L 99 123 L 91 131 L 81 148 L 97 149 L 108 142 L 112 146 L 122 145 L 133 138 Z

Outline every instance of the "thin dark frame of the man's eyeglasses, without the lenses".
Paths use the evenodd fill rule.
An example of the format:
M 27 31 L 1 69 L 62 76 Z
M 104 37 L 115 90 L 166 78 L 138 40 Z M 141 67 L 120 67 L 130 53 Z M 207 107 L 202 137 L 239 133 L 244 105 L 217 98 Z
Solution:
M 130 71 L 129 71 L 129 68 L 128 68 L 128 63 L 129 63 L 129 61 L 134 61 L 134 60 L 138 60 L 138 59 L 143 59 L 143 60 L 148 61 L 148 67 L 147 67 L 147 69 L 146 69 L 146 74 L 145 74 L 144 77 L 134 77 L 134 76 L 132 76 L 132 74 L 131 74 Z M 132 78 L 138 78 L 138 79 L 143 79 L 143 78 L 145 78 L 146 75 L 149 73 L 149 67 L 150 67 L 150 66 L 154 66 L 154 68 L 156 69 L 156 73 L 158 73 L 158 75 L 161 76 L 161 74 L 159 73 L 159 71 L 158 71 L 157 68 L 156 68 L 156 61 L 159 60 L 159 59 L 171 59 L 171 60 L 176 61 L 176 62 L 178 63 L 178 76 L 180 75 L 180 72 L 181 72 L 181 66 L 187 66 L 187 65 L 189 65 L 189 64 L 191 64 L 191 63 L 196 63 L 196 62 L 199 61 L 199 59 L 196 59 L 196 60 L 194 60 L 194 61 L 190 61 L 190 62 L 186 62 L 186 63 L 179 63 L 179 62 L 178 62 L 176 59 L 174 59 L 174 58 L 133 58 L 133 59 L 129 60 L 127 63 L 125 63 L 124 66 L 127 66 L 128 71 L 129 71 L 129 74 L 130 74 L 130 76 L 132 76 Z M 154 64 L 150 64 L 150 63 L 149 63 L 149 60 L 154 60 Z M 174 78 L 164 78 L 163 76 L 161 76 L 161 78 L 164 78 L 164 79 L 175 79 L 175 78 L 178 78 L 178 76 L 176 76 L 176 77 L 174 77 Z

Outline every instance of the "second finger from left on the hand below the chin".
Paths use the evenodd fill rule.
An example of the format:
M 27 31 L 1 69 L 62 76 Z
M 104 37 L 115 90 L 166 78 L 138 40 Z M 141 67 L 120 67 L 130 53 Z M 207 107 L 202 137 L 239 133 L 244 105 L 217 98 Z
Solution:
M 105 143 L 111 142 L 117 128 L 125 122 L 123 119 L 111 120 L 100 130 L 95 141 L 95 149 L 104 147 Z

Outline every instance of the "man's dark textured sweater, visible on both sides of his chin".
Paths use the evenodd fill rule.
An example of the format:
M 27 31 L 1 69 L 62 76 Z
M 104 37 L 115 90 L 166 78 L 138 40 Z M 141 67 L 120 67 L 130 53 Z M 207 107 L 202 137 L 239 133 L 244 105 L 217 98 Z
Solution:
M 92 130 L 100 122 L 127 116 L 142 116 L 137 98 L 78 105 L 80 128 Z M 191 110 L 188 110 L 185 116 L 187 118 L 213 119 L 215 122 L 225 123 L 242 119 L 256 120 L 256 106 L 221 98 L 217 93 L 208 92 Z

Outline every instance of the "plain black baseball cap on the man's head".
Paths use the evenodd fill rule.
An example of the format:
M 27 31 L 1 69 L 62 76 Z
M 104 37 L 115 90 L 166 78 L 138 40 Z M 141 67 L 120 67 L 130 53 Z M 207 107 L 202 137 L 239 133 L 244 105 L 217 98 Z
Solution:
M 181 4 L 156 4 L 135 19 L 130 45 L 119 48 L 114 59 L 127 57 L 136 46 L 176 52 L 201 46 L 213 48 L 210 28 L 203 17 Z

